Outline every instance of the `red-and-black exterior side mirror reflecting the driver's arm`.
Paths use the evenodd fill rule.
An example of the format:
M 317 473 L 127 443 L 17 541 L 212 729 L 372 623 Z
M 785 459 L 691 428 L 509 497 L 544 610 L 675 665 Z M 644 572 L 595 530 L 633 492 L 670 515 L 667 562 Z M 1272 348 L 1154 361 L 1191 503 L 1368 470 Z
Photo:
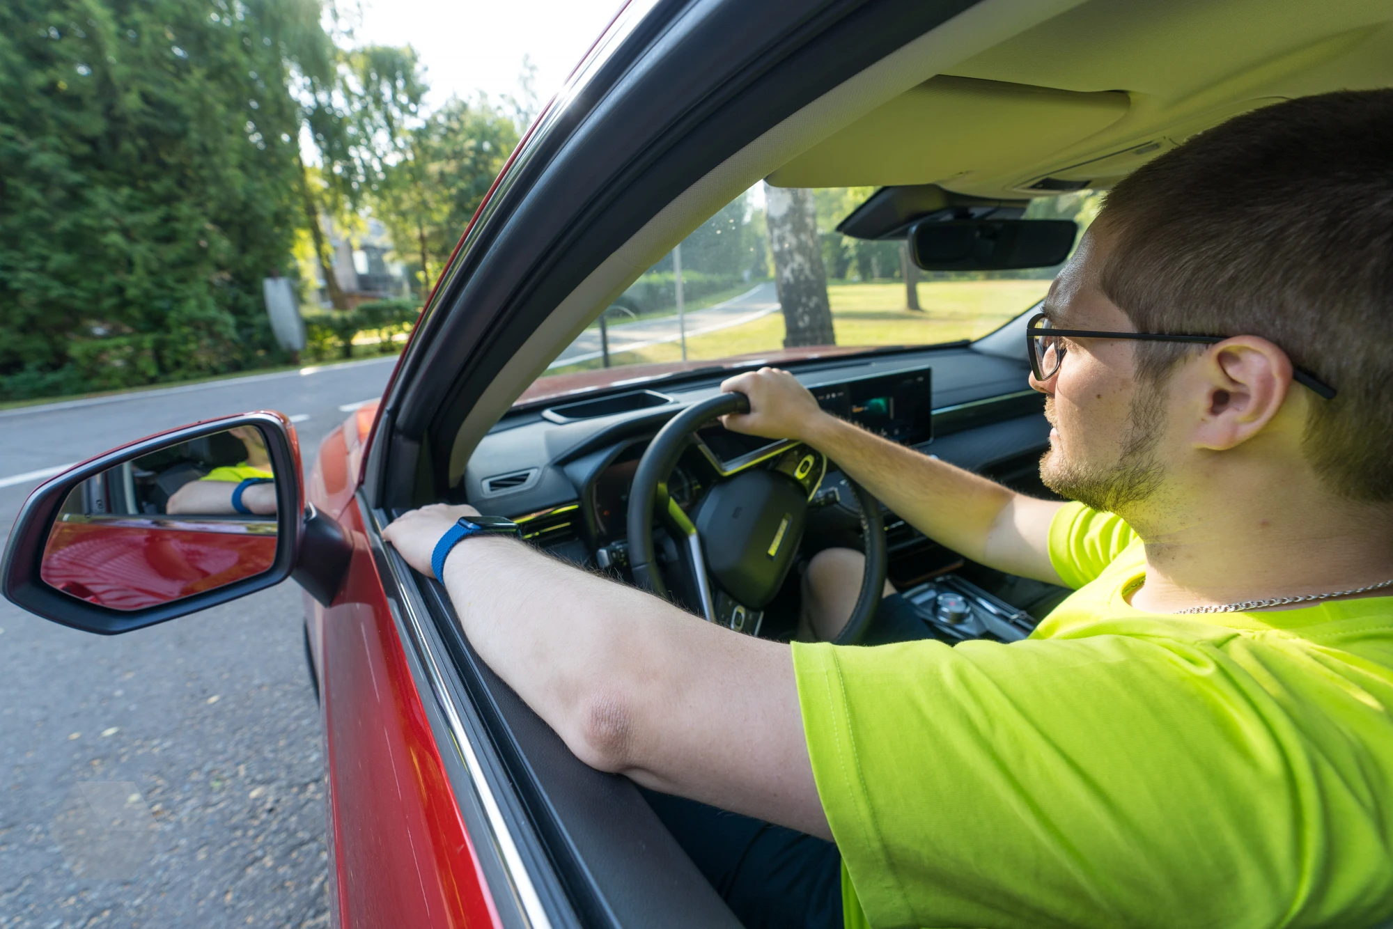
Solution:
M 290 421 L 251 412 L 142 439 L 42 485 L 10 533 L 0 591 L 47 620 L 110 635 L 293 572 L 332 599 L 350 553 L 333 520 L 305 510 Z

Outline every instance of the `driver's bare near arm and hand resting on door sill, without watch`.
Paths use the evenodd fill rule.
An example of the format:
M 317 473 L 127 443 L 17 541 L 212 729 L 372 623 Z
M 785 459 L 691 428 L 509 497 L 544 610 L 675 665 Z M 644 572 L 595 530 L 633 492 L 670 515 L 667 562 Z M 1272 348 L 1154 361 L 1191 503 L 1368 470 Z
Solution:
M 383 536 L 430 577 L 436 542 L 472 514 L 428 506 Z M 832 838 L 788 645 L 500 536 L 456 545 L 443 582 L 479 656 L 586 765 Z

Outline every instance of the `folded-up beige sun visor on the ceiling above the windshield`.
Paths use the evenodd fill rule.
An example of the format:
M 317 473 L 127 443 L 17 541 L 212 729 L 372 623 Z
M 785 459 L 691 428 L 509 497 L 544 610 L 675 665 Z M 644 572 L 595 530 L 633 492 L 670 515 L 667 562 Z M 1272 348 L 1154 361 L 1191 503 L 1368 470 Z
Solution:
M 939 75 L 769 175 L 775 187 L 903 187 L 1011 174 L 1121 118 L 1128 96 Z

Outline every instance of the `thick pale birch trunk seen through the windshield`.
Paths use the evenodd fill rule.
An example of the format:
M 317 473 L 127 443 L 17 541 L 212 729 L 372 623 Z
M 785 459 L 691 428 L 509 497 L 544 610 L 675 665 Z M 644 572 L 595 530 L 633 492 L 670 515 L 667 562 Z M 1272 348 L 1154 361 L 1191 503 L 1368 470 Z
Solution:
M 775 287 L 784 313 L 784 348 L 836 345 L 812 191 L 765 184 L 765 205 Z

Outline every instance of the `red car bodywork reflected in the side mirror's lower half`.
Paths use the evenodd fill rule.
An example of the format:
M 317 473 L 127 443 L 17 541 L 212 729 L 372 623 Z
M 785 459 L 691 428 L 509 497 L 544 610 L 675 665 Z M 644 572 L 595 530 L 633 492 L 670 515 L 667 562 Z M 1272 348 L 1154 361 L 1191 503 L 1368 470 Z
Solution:
M 198 526 L 196 520 L 180 528 L 162 522 L 59 522 L 43 549 L 40 577 L 88 603 L 139 610 L 249 578 L 276 561 L 274 535 Z

